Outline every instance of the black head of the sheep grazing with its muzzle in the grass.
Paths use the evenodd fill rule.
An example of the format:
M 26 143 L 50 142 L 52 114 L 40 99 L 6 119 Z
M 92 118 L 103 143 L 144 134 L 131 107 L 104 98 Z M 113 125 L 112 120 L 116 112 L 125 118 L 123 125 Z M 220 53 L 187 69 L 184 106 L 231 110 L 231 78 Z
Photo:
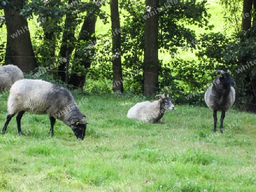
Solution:
M 72 124 L 70 124 L 70 127 L 72 131 L 75 133 L 77 140 L 84 140 L 85 131 L 86 131 L 86 124 L 87 124 L 87 118 L 85 117 L 85 121 L 82 121 L 81 119 L 73 119 Z

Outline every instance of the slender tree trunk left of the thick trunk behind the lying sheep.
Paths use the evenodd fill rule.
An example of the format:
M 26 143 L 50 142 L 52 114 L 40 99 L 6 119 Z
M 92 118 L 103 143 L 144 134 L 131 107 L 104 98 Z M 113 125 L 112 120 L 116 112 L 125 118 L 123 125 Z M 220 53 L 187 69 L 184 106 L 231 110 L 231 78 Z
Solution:
M 121 62 L 121 27 L 118 10 L 118 0 L 110 3 L 111 28 L 112 28 L 112 69 L 113 69 L 113 91 L 123 93 L 123 76 Z

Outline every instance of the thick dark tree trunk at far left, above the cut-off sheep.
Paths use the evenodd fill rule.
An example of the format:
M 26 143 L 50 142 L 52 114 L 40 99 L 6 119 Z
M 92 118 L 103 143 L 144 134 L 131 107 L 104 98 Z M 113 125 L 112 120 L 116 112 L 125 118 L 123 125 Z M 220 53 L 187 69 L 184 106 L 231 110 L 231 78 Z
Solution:
M 16 7 L 22 7 L 24 1 L 13 1 Z M 7 49 L 5 61 L 17 65 L 23 72 L 29 73 L 38 67 L 32 48 L 28 23 L 19 10 L 5 7 L 7 28 Z M 7 63 L 6 63 L 7 64 Z

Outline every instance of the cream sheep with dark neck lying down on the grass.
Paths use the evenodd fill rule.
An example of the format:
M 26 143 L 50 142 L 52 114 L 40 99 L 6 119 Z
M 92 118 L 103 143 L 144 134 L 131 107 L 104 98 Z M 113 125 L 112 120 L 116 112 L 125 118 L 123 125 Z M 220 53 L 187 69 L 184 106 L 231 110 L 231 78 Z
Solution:
M 164 115 L 166 110 L 174 110 L 169 95 L 156 95 L 155 97 L 161 97 L 158 101 L 150 102 L 144 101 L 137 103 L 127 113 L 127 118 L 146 120 L 147 123 L 156 123 Z

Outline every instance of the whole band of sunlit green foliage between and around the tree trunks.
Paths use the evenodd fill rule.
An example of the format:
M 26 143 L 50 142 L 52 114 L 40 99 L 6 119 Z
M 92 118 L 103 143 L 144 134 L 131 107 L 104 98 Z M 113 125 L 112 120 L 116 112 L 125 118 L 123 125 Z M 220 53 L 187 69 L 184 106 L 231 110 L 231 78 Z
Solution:
M 236 89 L 240 90 L 240 102 L 250 102 L 253 99 L 255 81 L 255 65 L 250 62 L 255 56 L 255 29 L 240 31 L 241 1 L 221 0 L 225 8 L 226 27 L 233 27 L 236 34 L 229 37 L 226 34 L 208 33 L 196 35 L 193 26 L 204 30 L 212 30 L 209 24 L 210 14 L 207 1 L 159 1 L 155 5 L 144 5 L 144 1 L 119 1 L 121 19 L 122 48 L 112 55 L 113 31 L 106 34 L 96 34 L 96 42 L 78 40 L 79 29 L 85 17 L 92 13 L 99 16 L 102 23 L 108 23 L 108 14 L 102 10 L 105 1 L 24 1 L 23 7 L 15 7 L 13 1 L 2 1 L 0 9 L 12 6 L 20 10 L 25 18 L 36 19 L 38 26 L 32 37 L 36 59 L 40 67 L 58 66 L 63 62 L 59 56 L 61 36 L 71 30 L 64 27 L 67 14 L 72 14 L 75 27 L 75 39 L 68 40 L 68 47 L 75 47 L 75 52 L 69 53 L 70 70 L 79 69 L 86 74 L 88 80 L 86 91 L 97 93 L 112 93 L 112 65 L 114 57 L 122 57 L 123 82 L 127 94 L 142 93 L 143 85 L 143 52 L 144 52 L 144 20 L 150 16 L 150 11 L 159 15 L 159 52 L 171 55 L 172 60 L 159 60 L 159 89 L 161 93 L 170 93 L 177 98 L 178 103 L 204 103 L 201 97 L 211 84 L 215 74 L 213 69 L 231 70 L 235 81 L 240 82 Z M 111 3 L 111 1 L 109 1 Z M 108 5 L 108 4 L 106 4 Z M 109 5 L 108 5 L 109 6 Z M 252 10 L 252 13 L 254 10 Z M 254 14 L 253 14 L 254 15 Z M 240 18 L 240 19 L 238 19 Z M 1 18 L 0 18 L 1 19 Z M 1 20 L 1 26 L 5 20 Z M 49 38 L 46 38 L 46 36 Z M 0 62 L 4 59 L 5 42 L 0 45 Z M 181 59 L 178 54 L 195 52 L 198 59 Z M 96 53 L 96 54 L 94 54 Z M 84 59 L 92 61 L 89 69 L 79 63 Z M 243 70 L 240 61 L 249 64 L 250 70 Z M 245 68 L 245 67 L 244 67 Z M 240 72 L 241 70 L 241 72 Z M 238 74 L 238 71 L 240 72 Z M 51 73 L 58 81 L 59 77 Z M 32 76 L 32 73 L 30 74 Z M 52 81 L 49 77 L 43 77 Z M 95 82 L 95 83 L 94 83 Z M 98 87 L 98 91 L 97 91 Z

